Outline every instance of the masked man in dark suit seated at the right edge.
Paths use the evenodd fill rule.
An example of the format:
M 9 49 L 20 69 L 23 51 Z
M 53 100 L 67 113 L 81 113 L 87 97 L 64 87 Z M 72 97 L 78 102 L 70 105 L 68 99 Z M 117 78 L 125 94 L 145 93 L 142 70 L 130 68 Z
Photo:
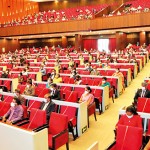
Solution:
M 138 97 L 150 98 L 150 91 L 147 89 L 147 83 L 143 82 L 142 87 L 137 90 L 134 96 L 134 105 L 137 104 Z

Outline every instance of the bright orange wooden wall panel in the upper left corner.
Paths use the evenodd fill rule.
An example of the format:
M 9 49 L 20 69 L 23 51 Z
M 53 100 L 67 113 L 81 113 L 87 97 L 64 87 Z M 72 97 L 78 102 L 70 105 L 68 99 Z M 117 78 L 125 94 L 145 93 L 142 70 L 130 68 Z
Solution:
M 38 12 L 38 3 L 29 0 L 0 0 L 0 23 L 11 22 L 16 19 Z

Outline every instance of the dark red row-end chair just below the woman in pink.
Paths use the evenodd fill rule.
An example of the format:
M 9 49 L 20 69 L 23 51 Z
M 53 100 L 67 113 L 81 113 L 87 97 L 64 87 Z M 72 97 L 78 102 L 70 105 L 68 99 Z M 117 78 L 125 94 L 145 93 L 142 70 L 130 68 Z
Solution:
M 90 126 L 89 125 L 89 117 L 91 115 L 94 114 L 95 121 L 97 121 L 97 119 L 96 119 L 96 106 L 95 106 L 95 102 L 93 102 L 92 104 L 90 104 L 88 106 L 87 111 L 88 111 L 88 128 L 89 128 L 89 126 Z

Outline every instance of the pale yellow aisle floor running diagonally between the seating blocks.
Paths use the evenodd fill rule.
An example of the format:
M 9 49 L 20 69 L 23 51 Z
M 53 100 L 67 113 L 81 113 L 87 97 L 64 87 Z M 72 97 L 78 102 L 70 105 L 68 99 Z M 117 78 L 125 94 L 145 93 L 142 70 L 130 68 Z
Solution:
M 141 82 L 145 77 L 150 74 L 150 62 L 146 64 L 144 69 L 137 75 L 137 77 L 131 82 L 124 93 L 113 104 L 110 101 L 110 107 L 104 114 L 98 115 L 97 122 L 94 120 L 94 116 L 90 117 L 90 128 L 80 138 L 72 141 L 70 138 L 70 150 L 86 150 L 95 141 L 99 142 L 99 150 L 105 150 L 106 147 L 114 140 L 114 127 L 118 120 L 118 111 L 123 106 L 128 106 L 132 103 L 135 91 L 140 88 Z M 59 150 L 65 150 L 63 146 Z

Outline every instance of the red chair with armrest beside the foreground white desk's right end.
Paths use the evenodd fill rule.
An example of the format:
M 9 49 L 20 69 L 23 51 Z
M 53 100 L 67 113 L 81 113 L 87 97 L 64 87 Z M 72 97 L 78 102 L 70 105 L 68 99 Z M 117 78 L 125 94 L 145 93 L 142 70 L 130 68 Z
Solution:
M 50 149 L 56 150 L 66 144 L 69 150 L 68 117 L 52 112 L 48 128 L 48 145 Z

